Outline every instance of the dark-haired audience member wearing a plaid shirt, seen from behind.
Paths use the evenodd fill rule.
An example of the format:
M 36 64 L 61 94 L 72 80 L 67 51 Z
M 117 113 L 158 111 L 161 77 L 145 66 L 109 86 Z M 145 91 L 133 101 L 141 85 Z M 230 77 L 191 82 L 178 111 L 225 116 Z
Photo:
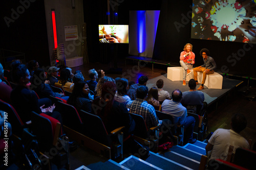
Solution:
M 174 137 L 170 130 L 172 122 L 168 119 L 158 120 L 154 107 L 145 101 L 147 93 L 148 88 L 146 86 L 139 86 L 136 100 L 127 103 L 126 107 L 130 109 L 131 113 L 139 114 L 144 118 L 147 129 L 161 124 L 159 127 L 162 134 L 162 137 L 159 137 L 159 139 L 161 138 L 160 143 L 173 141 Z

